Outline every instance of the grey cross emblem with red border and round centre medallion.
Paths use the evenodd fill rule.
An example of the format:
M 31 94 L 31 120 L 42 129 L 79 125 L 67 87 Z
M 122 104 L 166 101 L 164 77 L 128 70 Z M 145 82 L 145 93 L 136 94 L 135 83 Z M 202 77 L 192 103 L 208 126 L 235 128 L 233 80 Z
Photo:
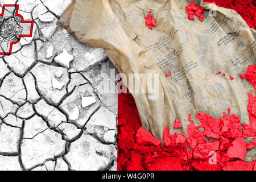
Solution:
M 31 37 L 33 21 L 18 14 L 19 5 L 3 5 L 0 14 L 0 55 L 10 55 L 13 45 L 22 37 Z

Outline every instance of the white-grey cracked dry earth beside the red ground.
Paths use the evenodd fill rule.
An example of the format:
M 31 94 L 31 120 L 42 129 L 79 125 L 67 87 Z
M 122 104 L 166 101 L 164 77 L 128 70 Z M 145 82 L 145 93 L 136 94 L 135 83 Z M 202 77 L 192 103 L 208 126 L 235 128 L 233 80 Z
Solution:
M 0 170 L 117 169 L 117 94 L 101 92 L 115 68 L 57 24 L 70 2 L 0 0 L 34 21 L 0 56 Z

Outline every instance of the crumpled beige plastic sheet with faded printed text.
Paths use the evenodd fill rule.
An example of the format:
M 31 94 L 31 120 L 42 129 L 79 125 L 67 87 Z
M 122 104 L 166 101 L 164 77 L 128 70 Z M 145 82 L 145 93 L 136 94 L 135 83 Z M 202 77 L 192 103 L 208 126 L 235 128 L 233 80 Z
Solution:
M 205 9 L 205 19 L 189 20 L 185 0 L 75 0 L 59 23 L 80 42 L 105 49 L 127 77 L 129 73 L 159 73 L 159 97 L 133 94 L 144 129 L 163 138 L 170 133 L 187 135 L 188 115 L 196 125 L 197 113 L 220 118 L 229 107 L 232 114 L 249 123 L 247 93 L 253 86 L 240 74 L 255 65 L 255 31 L 233 10 L 194 1 Z M 157 27 L 145 26 L 144 16 L 152 11 Z M 254 32 L 254 33 L 253 33 Z M 171 71 L 171 76 L 165 74 Z M 216 75 L 225 73 L 227 77 Z M 229 79 L 229 75 L 234 80 Z M 151 81 L 151 80 L 149 80 Z M 130 90 L 131 85 L 127 85 Z M 151 94 L 150 94 L 151 93 Z M 174 131 L 175 118 L 182 129 Z

